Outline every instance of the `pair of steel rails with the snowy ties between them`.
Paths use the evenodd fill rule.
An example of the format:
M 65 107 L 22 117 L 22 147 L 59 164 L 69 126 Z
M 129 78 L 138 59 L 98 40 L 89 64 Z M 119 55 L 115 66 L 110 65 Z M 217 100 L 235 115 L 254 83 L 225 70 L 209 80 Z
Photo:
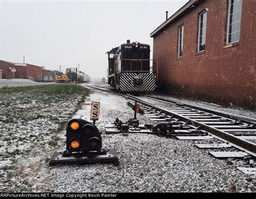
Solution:
M 251 156 L 256 156 L 256 145 L 249 141 L 256 138 L 256 120 L 240 115 L 215 111 L 210 108 L 187 104 L 183 101 L 171 100 L 157 95 L 140 95 L 135 97 L 131 94 L 117 93 L 102 86 L 90 86 L 102 91 L 115 93 L 127 99 L 137 101 L 146 110 L 153 109 L 160 116 L 168 115 L 167 119 L 158 121 L 168 121 L 170 118 L 182 121 L 186 126 L 193 126 L 194 129 L 205 131 L 214 138 L 223 142 L 228 142 L 235 148 L 246 152 Z M 159 118 L 160 118 L 159 116 Z

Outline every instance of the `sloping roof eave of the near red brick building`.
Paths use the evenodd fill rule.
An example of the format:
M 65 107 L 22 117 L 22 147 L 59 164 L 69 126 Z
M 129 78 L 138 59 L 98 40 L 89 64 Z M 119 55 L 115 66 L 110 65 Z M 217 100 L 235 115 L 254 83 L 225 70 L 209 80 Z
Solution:
M 169 25 L 174 19 L 176 19 L 177 17 L 179 17 L 181 14 L 183 14 L 185 11 L 187 11 L 188 9 L 191 9 L 191 7 L 194 4 L 197 4 L 198 2 L 200 2 L 200 0 L 190 0 L 189 2 L 187 2 L 185 5 L 183 5 L 177 12 L 175 12 L 169 19 L 167 19 L 163 24 L 161 24 L 160 26 L 158 26 L 158 28 L 156 30 L 154 30 L 153 32 L 150 33 L 150 37 L 154 37 L 156 36 L 162 29 L 166 28 L 167 25 Z

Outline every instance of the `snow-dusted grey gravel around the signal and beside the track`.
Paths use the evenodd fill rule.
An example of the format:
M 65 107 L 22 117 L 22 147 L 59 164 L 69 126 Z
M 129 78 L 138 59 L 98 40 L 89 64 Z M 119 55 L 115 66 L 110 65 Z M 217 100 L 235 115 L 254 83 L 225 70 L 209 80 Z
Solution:
M 207 150 L 194 147 L 194 141 L 148 134 L 106 135 L 104 125 L 117 117 L 126 121 L 133 116 L 133 112 L 122 97 L 96 90 L 92 92 L 73 118 L 88 120 L 91 101 L 100 101 L 96 125 L 103 132 L 103 148 L 117 151 L 119 166 L 97 163 L 49 167 L 51 154 L 65 149 L 65 131 L 61 131 L 57 146 L 45 148 L 46 141 L 43 142 L 45 146 L 30 148 L 34 152 L 31 155 L 21 156 L 15 175 L 8 173 L 7 177 L 6 170 L 1 170 L 4 183 L 0 184 L 0 192 L 231 192 L 231 184 L 235 185 L 237 192 L 253 192 L 256 189 L 256 175 L 246 175 L 237 169 L 243 164 L 247 166 L 246 162 L 236 160 L 228 164 L 226 160 L 215 159 L 208 155 Z M 140 123 L 147 122 L 144 116 L 139 115 L 138 119 Z M 44 122 L 41 121 L 41 124 L 44 125 Z M 50 124 L 44 127 L 50 127 Z M 14 127 L 17 128 L 18 125 Z M 15 136 L 15 131 L 12 132 Z M 19 143 L 25 136 L 22 132 L 23 129 L 18 132 Z M 26 134 L 29 133 L 33 134 L 28 129 Z M 35 155 L 35 152 L 38 154 Z

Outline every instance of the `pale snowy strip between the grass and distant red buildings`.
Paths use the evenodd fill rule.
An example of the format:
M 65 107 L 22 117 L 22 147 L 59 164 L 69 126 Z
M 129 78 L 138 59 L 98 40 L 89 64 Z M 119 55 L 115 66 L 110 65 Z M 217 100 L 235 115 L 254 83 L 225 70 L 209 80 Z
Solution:
M 17 87 L 17 86 L 36 86 L 53 83 L 39 83 L 30 79 L 0 79 L 0 89 L 3 87 Z

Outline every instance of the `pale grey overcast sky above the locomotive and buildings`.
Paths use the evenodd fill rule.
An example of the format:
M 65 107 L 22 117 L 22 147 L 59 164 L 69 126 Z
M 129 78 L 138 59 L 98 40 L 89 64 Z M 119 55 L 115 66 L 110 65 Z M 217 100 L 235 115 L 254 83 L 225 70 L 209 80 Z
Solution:
M 150 44 L 150 33 L 188 0 L 2 1 L 0 59 L 58 70 L 76 67 L 106 77 L 105 52 L 130 39 Z M 151 51 L 152 56 L 152 51 Z

